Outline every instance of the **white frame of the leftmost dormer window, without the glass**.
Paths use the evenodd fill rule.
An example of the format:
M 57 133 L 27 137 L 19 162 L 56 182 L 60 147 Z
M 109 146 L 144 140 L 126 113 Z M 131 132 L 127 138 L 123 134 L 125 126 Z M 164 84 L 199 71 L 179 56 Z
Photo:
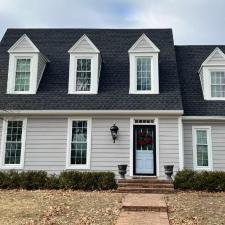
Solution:
M 30 59 L 29 91 L 15 91 L 17 59 Z M 38 53 L 10 53 L 7 94 L 35 94 L 37 90 Z

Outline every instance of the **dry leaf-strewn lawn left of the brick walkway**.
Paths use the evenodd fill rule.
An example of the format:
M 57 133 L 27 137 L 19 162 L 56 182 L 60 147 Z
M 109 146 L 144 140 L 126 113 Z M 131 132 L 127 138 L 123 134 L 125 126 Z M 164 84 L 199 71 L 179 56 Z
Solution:
M 122 197 L 111 192 L 0 190 L 0 224 L 111 225 Z

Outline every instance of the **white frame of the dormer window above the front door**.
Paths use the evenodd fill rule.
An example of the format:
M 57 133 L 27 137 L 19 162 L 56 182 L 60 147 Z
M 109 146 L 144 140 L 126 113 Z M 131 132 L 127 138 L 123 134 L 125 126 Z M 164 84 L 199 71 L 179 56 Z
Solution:
M 151 58 L 151 90 L 137 90 L 137 58 Z M 158 52 L 129 53 L 130 59 L 130 90 L 129 94 L 159 94 Z

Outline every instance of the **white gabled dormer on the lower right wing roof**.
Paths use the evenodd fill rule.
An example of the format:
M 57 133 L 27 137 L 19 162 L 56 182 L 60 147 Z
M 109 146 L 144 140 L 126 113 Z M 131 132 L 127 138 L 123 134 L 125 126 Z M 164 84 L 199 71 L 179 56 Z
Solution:
M 225 54 L 218 47 L 199 69 L 205 100 L 225 100 Z

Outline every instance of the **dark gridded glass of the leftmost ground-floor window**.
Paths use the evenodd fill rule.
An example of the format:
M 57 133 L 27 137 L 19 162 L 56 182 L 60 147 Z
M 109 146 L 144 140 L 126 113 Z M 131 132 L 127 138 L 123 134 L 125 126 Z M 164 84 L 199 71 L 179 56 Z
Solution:
M 20 164 L 22 126 L 22 121 L 8 121 L 5 145 L 5 164 Z

